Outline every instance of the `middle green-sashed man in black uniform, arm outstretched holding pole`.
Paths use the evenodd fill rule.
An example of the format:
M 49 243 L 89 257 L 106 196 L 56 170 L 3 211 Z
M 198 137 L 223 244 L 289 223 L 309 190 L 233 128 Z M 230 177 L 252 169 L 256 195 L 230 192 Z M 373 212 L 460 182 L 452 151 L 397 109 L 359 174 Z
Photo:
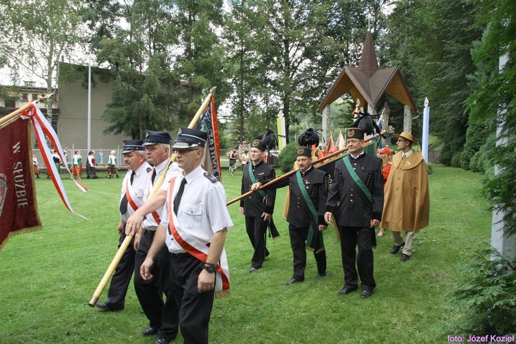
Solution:
M 267 189 L 289 186 L 290 202 L 287 222 L 290 246 L 294 255 L 294 275 L 286 285 L 305 280 L 306 249 L 314 252 L 319 277 L 326 276 L 326 251 L 323 244 L 323 230 L 327 224 L 324 219 L 330 175 L 312 166 L 312 149 L 297 148 L 297 173 L 279 180 Z M 252 189 L 258 189 L 268 180 L 257 182 Z

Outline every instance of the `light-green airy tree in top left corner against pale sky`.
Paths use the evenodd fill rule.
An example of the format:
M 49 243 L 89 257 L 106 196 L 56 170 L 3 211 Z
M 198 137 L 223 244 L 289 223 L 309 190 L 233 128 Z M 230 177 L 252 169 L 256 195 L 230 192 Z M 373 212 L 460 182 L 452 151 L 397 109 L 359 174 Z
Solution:
M 7 62 L 14 84 L 30 75 L 54 92 L 59 61 L 78 62 L 82 11 L 79 0 L 0 1 L 0 61 Z M 52 103 L 54 98 L 47 101 L 50 120 Z

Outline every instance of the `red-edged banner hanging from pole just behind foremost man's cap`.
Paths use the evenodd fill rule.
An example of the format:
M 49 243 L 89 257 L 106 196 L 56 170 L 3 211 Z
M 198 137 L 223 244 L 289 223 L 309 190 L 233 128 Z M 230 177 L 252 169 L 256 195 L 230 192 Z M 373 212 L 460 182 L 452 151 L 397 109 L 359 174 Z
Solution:
M 206 109 L 202 112 L 201 118 L 195 129 L 206 131 L 208 133 L 208 141 L 206 145 L 208 149 L 204 149 L 202 157 L 202 166 L 211 173 L 219 181 L 222 181 L 222 173 L 220 170 L 220 147 L 219 147 L 219 128 L 217 126 L 217 111 L 215 110 L 215 99 L 211 97 L 210 102 L 206 105 Z

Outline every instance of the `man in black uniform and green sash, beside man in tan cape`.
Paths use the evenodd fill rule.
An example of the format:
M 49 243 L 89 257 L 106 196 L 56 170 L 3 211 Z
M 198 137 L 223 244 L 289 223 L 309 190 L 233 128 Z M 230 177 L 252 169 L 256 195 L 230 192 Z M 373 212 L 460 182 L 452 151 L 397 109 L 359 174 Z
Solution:
M 350 152 L 335 163 L 332 187 L 328 192 L 327 223 L 336 216 L 341 235 L 344 286 L 338 294 L 349 294 L 362 281 L 362 298 L 370 297 L 376 286 L 373 277 L 374 228 L 380 224 L 383 209 L 383 177 L 380 158 L 363 151 L 360 128 L 346 131 Z M 358 245 L 358 255 L 356 246 Z M 355 265 L 358 268 L 356 273 Z

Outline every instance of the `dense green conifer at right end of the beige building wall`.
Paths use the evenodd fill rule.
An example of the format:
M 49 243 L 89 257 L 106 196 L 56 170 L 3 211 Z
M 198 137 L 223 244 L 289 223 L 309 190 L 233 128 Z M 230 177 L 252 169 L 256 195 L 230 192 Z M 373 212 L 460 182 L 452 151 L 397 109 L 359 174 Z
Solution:
M 143 138 L 145 129 L 180 125 L 186 113 L 180 100 L 185 88 L 169 67 L 169 49 L 176 42 L 167 24 L 172 8 L 166 0 L 90 3 L 87 18 L 96 32 L 92 44 L 98 63 L 111 67 L 115 85 L 103 115 L 111 123 L 106 133 Z

